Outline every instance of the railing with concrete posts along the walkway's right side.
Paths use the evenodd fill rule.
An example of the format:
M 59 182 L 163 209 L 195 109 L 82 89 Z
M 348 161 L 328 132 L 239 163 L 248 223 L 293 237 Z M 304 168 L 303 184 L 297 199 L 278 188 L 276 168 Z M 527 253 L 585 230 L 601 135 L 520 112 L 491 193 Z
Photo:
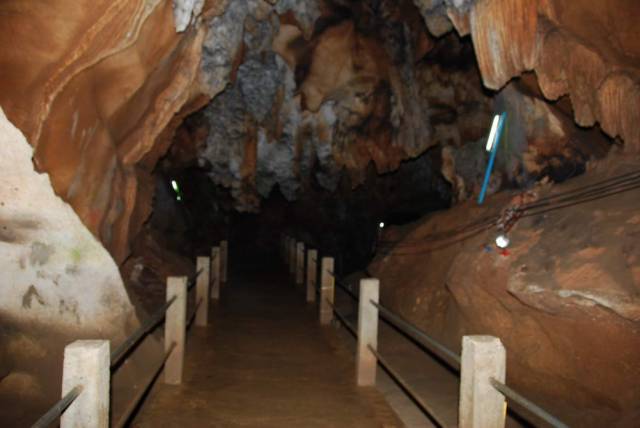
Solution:
M 282 256 L 289 265 L 289 272 L 294 275 L 296 284 L 300 272 L 304 271 L 304 243 L 285 236 L 282 240 Z M 316 287 L 317 277 L 316 250 L 307 253 L 307 300 L 309 287 Z M 310 279 L 311 278 L 311 279 Z M 358 325 L 354 326 L 334 304 L 335 286 L 347 296 L 358 302 Z M 420 330 L 402 316 L 386 308 L 379 302 L 379 281 L 362 279 L 358 291 L 337 278 L 334 273 L 334 261 L 331 257 L 321 259 L 320 287 L 313 290 L 313 296 L 320 295 L 320 323 L 327 325 L 335 317 L 356 337 L 358 341 L 356 356 L 357 384 L 373 386 L 376 381 L 377 365 L 380 364 L 412 398 L 440 426 L 446 423 L 437 412 L 411 387 L 410 382 L 403 379 L 397 370 L 377 350 L 378 319 L 392 325 L 403 334 L 436 354 L 440 359 L 460 375 L 460 398 L 458 408 L 458 425 L 470 428 L 504 427 L 506 422 L 506 400 L 517 403 L 530 414 L 553 427 L 568 427 L 560 419 L 525 398 L 505 384 L 506 350 L 500 339 L 493 336 L 464 336 L 462 354 L 458 354 L 447 346 Z M 525 417 L 525 415 L 520 415 Z

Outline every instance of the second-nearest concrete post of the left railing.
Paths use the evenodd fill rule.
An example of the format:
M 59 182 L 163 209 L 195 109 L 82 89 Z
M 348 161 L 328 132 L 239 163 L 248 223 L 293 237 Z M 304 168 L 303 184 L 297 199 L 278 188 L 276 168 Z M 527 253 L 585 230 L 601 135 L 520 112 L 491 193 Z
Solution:
M 187 278 L 167 278 L 167 301 L 176 297 L 175 302 L 167 309 L 164 323 L 164 350 L 168 352 L 175 343 L 175 348 L 164 364 L 164 382 L 171 385 L 182 383 L 182 367 L 184 366 L 184 338 L 187 319 Z

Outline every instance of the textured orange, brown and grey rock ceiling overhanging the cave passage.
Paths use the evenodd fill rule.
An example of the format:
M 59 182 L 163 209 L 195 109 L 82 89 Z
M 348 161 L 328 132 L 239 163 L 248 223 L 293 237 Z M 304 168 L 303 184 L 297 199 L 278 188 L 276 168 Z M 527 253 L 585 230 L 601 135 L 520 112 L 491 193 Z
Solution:
M 473 67 L 425 60 L 458 43 L 432 38 L 453 29 L 471 36 L 487 88 L 534 71 L 534 98 L 568 97 L 576 123 L 635 153 L 639 15 L 635 0 L 6 0 L 0 105 L 121 261 L 148 217 L 152 170 L 195 111 L 207 120 L 193 156 L 240 210 L 276 184 L 289 199 L 312 180 L 334 188 L 342 170 L 357 185 L 369 162 L 391 171 L 434 146 L 451 148 L 443 173 L 463 198 L 458 152 L 500 101 Z M 522 135 L 519 162 L 541 168 L 553 144 Z

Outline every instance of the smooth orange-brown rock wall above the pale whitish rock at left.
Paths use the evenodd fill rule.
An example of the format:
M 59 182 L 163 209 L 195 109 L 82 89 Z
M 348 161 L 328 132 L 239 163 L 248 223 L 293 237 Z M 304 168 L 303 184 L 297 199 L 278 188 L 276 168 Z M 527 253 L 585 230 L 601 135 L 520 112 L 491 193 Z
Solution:
M 0 5 L 0 105 L 118 261 L 149 213 L 145 162 L 198 86 L 205 30 L 173 20 L 159 0 Z

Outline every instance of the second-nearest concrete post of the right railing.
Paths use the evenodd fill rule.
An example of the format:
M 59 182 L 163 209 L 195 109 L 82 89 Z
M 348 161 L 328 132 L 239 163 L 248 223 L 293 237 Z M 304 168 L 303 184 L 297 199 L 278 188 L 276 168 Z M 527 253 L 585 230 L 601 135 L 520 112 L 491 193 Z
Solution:
M 360 280 L 360 301 L 358 304 L 358 352 L 356 355 L 356 379 L 358 386 L 376 384 L 378 359 L 369 346 L 378 349 L 378 303 L 380 281 L 374 278 Z

